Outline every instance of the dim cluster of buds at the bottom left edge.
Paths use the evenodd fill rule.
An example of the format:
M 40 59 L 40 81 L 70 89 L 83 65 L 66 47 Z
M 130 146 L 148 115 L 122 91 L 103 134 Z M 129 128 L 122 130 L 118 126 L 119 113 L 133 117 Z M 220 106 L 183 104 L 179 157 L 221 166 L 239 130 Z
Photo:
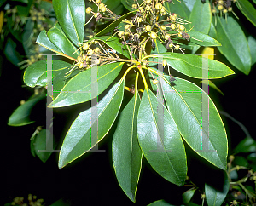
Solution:
M 44 205 L 44 199 L 37 199 L 37 196 L 28 194 L 27 200 L 25 200 L 24 197 L 15 197 L 11 205 L 42 206 Z

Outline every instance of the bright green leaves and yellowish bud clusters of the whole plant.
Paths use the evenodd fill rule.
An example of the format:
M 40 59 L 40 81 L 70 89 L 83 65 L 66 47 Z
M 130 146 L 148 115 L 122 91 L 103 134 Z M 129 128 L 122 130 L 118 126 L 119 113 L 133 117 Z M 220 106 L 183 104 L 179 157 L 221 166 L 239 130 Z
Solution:
M 183 186 L 188 182 L 191 188 L 183 193 L 183 203 L 197 205 L 189 203 L 199 188 L 187 177 L 188 145 L 221 174 L 218 186 L 205 183 L 205 193 L 200 192 L 203 202 L 206 199 L 208 205 L 222 205 L 231 187 L 245 194 L 246 203 L 253 203 L 253 188 L 245 182 L 255 181 L 255 168 L 243 157 L 230 156 L 227 163 L 228 140 L 218 109 L 207 90 L 188 80 L 203 79 L 203 83 L 218 89 L 210 79 L 235 73 L 204 52 L 195 55 L 203 47 L 217 47 L 230 65 L 249 74 L 255 63 L 255 48 L 250 49 L 248 42 L 254 43 L 255 38 L 247 40 L 232 9 L 234 3 L 255 25 L 255 9 L 247 0 L 129 0 L 116 5 L 100 0 L 54 0 L 58 22 L 49 31 L 40 27 L 37 43 L 68 62 L 72 60 L 73 65 L 53 60 L 49 70 L 47 60 L 29 61 L 24 82 L 32 88 L 41 87 L 41 94 L 53 83 L 55 93 L 49 94 L 53 100 L 49 108 L 91 101 L 91 107 L 79 113 L 66 134 L 59 168 L 97 150 L 97 144 L 116 123 L 113 168 L 119 186 L 132 202 L 136 201 L 144 157 L 172 184 Z M 128 12 L 124 14 L 125 9 Z M 95 26 L 95 30 L 86 30 L 86 25 Z M 39 96 L 20 106 L 9 118 L 9 125 L 32 123 L 29 113 Z M 37 151 L 48 132 L 43 129 L 36 139 L 32 136 L 32 154 L 43 162 L 50 152 L 40 156 Z M 235 152 L 253 152 L 254 147 L 255 142 L 246 139 Z M 253 162 L 252 154 L 249 159 Z M 246 177 L 233 182 L 239 176 L 234 172 L 240 169 L 250 170 Z M 171 204 L 162 200 L 150 205 Z

